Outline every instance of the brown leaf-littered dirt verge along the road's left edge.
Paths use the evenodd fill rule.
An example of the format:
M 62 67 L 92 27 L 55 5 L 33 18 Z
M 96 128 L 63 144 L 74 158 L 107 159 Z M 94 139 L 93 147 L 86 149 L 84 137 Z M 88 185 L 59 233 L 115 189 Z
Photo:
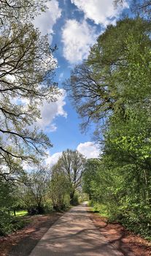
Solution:
M 6 237 L 0 237 L 0 256 L 28 256 L 44 233 L 63 214 L 51 213 L 25 217 L 28 225 Z

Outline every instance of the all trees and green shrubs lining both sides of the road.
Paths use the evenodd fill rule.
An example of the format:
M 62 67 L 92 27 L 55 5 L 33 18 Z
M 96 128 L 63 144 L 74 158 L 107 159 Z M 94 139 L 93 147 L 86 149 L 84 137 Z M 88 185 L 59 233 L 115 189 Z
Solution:
M 18 210 L 61 211 L 88 195 L 109 221 L 150 239 L 151 1 L 133 1 L 132 17 L 107 26 L 63 84 L 82 131 L 95 124 L 99 158 L 67 149 L 53 167 L 44 164 L 51 142 L 34 123 L 42 100 L 59 94 L 55 49 L 31 23 L 44 1 L 0 4 L 0 236 L 25 225 Z

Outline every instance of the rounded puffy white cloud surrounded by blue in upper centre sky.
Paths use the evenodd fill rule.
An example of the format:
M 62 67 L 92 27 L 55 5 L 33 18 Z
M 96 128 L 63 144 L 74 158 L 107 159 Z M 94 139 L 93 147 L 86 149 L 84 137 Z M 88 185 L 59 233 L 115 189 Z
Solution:
M 90 46 L 96 42 L 96 29 L 85 20 L 66 20 L 62 30 L 63 56 L 71 64 L 87 58 Z

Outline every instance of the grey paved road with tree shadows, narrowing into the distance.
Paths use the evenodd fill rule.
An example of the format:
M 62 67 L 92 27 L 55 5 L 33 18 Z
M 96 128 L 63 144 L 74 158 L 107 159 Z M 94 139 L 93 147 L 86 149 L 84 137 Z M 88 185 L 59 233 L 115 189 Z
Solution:
M 71 208 L 44 234 L 29 256 L 123 256 L 101 235 L 85 204 Z

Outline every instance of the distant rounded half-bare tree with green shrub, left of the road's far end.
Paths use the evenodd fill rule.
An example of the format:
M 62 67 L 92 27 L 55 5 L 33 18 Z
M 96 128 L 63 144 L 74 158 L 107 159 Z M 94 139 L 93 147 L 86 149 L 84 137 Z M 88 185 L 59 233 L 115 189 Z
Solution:
M 78 151 L 63 151 L 58 162 L 53 165 L 49 194 L 55 210 L 76 206 L 79 203 L 82 173 L 85 158 Z

